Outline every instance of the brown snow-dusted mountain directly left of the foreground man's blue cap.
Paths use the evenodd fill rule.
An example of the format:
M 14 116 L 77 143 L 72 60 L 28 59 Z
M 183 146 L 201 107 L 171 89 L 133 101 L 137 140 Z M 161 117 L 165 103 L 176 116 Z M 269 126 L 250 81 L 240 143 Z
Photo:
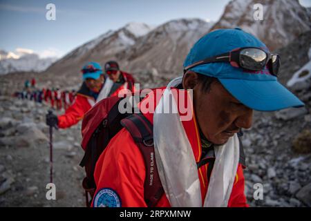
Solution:
M 201 19 L 169 21 L 119 52 L 117 59 L 129 70 L 156 68 L 159 73 L 180 73 L 190 48 L 213 24 Z

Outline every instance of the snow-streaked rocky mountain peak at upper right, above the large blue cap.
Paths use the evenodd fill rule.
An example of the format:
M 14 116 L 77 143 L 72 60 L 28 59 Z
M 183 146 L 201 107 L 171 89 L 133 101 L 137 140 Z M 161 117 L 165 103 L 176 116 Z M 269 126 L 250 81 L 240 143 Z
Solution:
M 263 5 L 263 21 L 254 19 L 255 3 Z M 308 9 L 298 0 L 234 0 L 227 4 L 220 20 L 211 29 L 236 26 L 264 41 L 270 50 L 275 50 L 310 30 L 311 19 Z

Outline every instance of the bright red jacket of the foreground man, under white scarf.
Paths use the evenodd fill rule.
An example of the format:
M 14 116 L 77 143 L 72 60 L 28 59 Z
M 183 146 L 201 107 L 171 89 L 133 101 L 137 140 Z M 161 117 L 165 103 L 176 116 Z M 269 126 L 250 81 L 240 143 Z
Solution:
M 149 98 L 147 97 L 145 101 L 147 101 L 147 99 Z M 142 102 L 144 102 L 144 100 Z M 155 108 L 156 102 L 159 102 L 159 99 L 155 101 Z M 146 113 L 144 116 L 153 124 L 153 113 Z M 183 121 L 182 124 L 191 144 L 196 162 L 199 162 L 201 157 L 201 144 L 198 123 L 196 122 L 195 116 L 193 116 L 190 121 Z M 92 206 L 97 206 L 98 200 L 103 200 L 103 198 L 104 200 L 108 200 L 106 202 L 111 202 L 112 199 L 112 201 L 115 202 L 113 205 L 116 206 L 147 206 L 144 202 L 144 180 L 146 176 L 144 165 L 144 158 L 134 142 L 133 137 L 131 137 L 129 131 L 122 128 L 122 130 L 113 137 L 111 142 L 109 142 L 97 161 L 94 172 L 97 189 Z M 202 204 L 204 203 L 209 185 L 207 180 L 207 167 L 208 164 L 205 164 L 198 169 Z M 162 195 L 157 206 L 171 206 L 165 194 Z M 248 206 L 244 195 L 244 175 L 241 164 L 238 165 L 236 180 L 232 188 L 228 206 Z

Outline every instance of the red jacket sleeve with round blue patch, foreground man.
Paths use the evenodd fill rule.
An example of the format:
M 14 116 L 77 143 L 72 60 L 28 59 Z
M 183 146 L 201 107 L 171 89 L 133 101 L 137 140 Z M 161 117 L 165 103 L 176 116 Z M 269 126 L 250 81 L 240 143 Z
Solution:
M 146 207 L 144 202 L 144 179 L 146 171 L 140 149 L 136 146 L 130 133 L 123 128 L 109 142 L 99 160 L 95 172 L 97 189 L 92 206 L 100 206 L 107 196 L 102 192 L 112 193 L 120 202 L 117 206 Z

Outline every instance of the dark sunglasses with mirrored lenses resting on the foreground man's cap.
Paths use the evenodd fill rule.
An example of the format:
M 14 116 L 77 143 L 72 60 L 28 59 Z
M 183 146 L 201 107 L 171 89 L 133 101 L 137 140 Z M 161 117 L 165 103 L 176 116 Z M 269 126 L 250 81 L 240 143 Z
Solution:
M 229 62 L 236 68 L 243 68 L 245 70 L 258 71 L 263 70 L 265 66 L 269 68 L 270 73 L 278 76 L 279 68 L 281 66 L 281 59 L 278 54 L 270 54 L 261 48 L 245 47 L 237 48 L 230 52 L 226 52 L 214 57 L 209 57 L 202 61 L 198 61 L 185 67 L 185 72 L 190 68 L 199 66 L 201 64 L 209 64 L 214 62 Z

